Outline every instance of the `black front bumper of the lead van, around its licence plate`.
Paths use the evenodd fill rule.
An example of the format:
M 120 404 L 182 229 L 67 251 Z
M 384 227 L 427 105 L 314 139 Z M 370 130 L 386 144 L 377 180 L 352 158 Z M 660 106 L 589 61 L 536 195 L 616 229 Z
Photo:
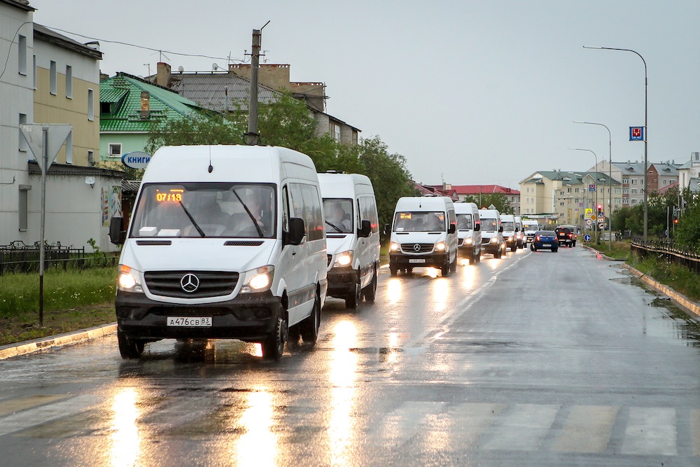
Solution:
M 117 326 L 132 340 L 239 339 L 262 342 L 276 330 L 283 316 L 279 297 L 272 292 L 246 293 L 232 300 L 196 305 L 157 302 L 143 293 L 118 291 Z M 167 318 L 211 316 L 210 327 L 167 326 Z

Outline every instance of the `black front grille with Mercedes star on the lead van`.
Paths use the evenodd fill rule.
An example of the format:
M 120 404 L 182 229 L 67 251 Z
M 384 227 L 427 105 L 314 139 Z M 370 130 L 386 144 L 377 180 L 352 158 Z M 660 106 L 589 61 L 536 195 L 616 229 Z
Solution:
M 193 292 L 183 289 L 181 282 L 187 274 L 199 281 Z M 229 295 L 236 288 L 237 272 L 218 271 L 149 271 L 144 274 L 148 290 L 155 295 L 173 298 L 206 298 Z M 191 282 L 191 281 L 190 281 Z

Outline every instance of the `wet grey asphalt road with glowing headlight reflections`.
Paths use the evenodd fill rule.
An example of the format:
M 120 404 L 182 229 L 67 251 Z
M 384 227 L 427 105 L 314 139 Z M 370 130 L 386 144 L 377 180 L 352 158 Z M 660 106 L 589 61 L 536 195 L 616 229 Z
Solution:
M 0 362 L 0 465 L 700 466 L 700 326 L 584 249 L 381 270 L 314 349 Z

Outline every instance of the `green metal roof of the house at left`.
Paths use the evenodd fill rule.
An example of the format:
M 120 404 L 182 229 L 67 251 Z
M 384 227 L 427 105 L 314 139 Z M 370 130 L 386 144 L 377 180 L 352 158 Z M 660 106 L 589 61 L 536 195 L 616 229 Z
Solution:
M 150 95 L 148 118 L 141 118 L 142 91 Z M 99 116 L 101 132 L 149 132 L 153 123 L 203 110 L 190 99 L 124 73 L 99 83 L 99 101 L 110 104 L 110 112 Z

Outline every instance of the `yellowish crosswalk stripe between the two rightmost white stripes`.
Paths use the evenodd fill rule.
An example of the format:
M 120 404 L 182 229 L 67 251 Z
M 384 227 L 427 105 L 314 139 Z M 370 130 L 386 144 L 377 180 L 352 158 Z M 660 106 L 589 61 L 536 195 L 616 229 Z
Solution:
M 605 452 L 617 412 L 617 407 L 576 405 L 566 418 L 563 433 L 554 441 L 552 450 Z

